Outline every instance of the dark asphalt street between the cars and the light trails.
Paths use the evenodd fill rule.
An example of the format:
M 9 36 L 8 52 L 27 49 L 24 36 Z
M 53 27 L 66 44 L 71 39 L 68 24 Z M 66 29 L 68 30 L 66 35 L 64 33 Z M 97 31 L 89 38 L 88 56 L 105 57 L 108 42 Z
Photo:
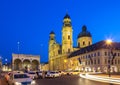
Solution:
M 61 76 L 59 78 L 37 79 L 36 85 L 116 85 L 80 78 L 79 76 Z

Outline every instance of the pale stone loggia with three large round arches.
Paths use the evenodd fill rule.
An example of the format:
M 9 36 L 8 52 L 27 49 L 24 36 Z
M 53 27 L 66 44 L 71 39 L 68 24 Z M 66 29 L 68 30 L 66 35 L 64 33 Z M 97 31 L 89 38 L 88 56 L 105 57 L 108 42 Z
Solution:
M 12 54 L 12 70 L 40 69 L 39 55 Z

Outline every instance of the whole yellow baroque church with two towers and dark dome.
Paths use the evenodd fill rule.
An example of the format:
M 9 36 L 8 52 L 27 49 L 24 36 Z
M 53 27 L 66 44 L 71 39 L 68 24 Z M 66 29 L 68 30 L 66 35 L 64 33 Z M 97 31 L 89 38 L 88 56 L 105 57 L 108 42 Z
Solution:
M 56 42 L 56 35 L 53 31 L 49 35 L 49 70 L 69 70 L 66 64 L 71 61 L 68 61 L 68 56 L 74 51 L 92 45 L 91 33 L 83 25 L 82 32 L 77 36 L 77 46 L 73 47 L 73 28 L 71 18 L 68 14 L 63 18 L 61 30 L 62 44 Z

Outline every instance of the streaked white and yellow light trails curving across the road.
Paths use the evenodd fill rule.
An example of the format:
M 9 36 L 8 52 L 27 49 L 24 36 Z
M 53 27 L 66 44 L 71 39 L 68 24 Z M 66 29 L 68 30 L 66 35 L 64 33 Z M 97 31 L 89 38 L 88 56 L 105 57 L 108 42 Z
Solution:
M 119 75 L 112 75 L 111 77 L 109 77 L 108 75 L 105 75 L 105 74 L 87 74 L 86 73 L 86 74 L 80 74 L 80 77 L 86 78 L 89 80 L 120 85 L 120 76 Z

